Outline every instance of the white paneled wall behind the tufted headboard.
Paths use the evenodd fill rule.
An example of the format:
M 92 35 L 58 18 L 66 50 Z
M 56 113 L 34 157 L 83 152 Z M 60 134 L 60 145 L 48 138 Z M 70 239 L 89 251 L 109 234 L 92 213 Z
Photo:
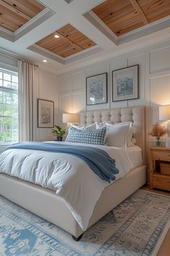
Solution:
M 112 70 L 135 64 L 139 64 L 139 99 L 112 102 Z M 108 75 L 108 102 L 86 106 L 86 77 L 104 72 Z M 148 129 L 151 129 L 158 121 L 158 105 L 170 104 L 170 41 L 60 74 L 58 87 L 61 124 L 63 112 L 146 105 L 151 106 L 148 124 Z

